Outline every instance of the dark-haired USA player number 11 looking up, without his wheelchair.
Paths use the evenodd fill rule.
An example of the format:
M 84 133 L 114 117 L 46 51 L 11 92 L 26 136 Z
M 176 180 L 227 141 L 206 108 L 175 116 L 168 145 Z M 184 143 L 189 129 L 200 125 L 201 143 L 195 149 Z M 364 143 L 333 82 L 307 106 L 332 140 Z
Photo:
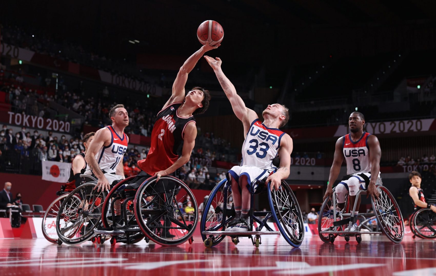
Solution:
M 123 104 L 117 104 L 109 111 L 109 117 L 112 125 L 95 132 L 85 156 L 92 173 L 98 178 L 98 191 L 109 190 L 112 182 L 124 179 L 122 161 L 129 142 L 124 128 L 129 125 L 129 114 Z

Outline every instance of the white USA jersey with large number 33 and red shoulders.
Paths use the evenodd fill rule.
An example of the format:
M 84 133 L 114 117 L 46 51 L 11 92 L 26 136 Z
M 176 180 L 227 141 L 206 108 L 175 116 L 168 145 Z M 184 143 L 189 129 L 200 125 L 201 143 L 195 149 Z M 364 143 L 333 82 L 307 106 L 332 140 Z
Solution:
M 277 156 L 284 134 L 278 128 L 266 127 L 259 119 L 253 121 L 242 145 L 241 166 L 276 168 L 272 165 L 272 159 Z

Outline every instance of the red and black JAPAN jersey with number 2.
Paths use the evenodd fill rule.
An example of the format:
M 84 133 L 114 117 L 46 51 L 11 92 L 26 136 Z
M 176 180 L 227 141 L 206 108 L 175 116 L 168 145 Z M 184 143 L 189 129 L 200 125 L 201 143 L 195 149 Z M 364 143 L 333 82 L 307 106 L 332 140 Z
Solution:
M 138 161 L 138 167 L 149 175 L 166 170 L 179 158 L 183 142 L 183 131 L 194 116 L 180 117 L 177 108 L 183 103 L 173 103 L 157 113 L 151 131 L 151 145 L 147 158 Z

